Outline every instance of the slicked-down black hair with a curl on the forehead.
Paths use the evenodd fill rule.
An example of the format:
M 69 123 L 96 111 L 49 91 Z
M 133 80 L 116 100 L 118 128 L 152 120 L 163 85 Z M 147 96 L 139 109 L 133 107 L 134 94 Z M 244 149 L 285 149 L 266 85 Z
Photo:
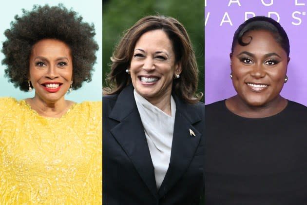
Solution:
M 242 46 L 248 45 L 250 43 L 250 41 L 252 40 L 251 37 L 249 42 L 243 42 L 242 38 L 245 33 L 253 30 L 266 30 L 275 34 L 276 42 L 280 44 L 280 46 L 286 51 L 287 55 L 289 56 L 290 44 L 286 31 L 277 21 L 265 16 L 256 16 L 250 18 L 238 27 L 238 29 L 234 33 L 232 40 L 232 53 L 236 43 L 239 43 Z

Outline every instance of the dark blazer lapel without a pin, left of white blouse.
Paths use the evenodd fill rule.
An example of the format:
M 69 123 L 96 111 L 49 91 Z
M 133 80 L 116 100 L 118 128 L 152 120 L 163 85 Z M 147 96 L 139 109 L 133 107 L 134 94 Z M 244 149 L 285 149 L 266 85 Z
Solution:
M 109 117 L 119 123 L 111 129 L 111 133 L 128 155 L 153 196 L 157 197 L 153 163 L 134 100 L 133 89 L 130 85 L 118 95 Z

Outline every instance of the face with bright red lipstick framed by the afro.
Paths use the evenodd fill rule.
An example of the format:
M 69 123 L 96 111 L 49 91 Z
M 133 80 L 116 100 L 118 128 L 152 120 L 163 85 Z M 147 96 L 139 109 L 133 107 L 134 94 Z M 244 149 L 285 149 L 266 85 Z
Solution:
M 44 39 L 34 44 L 30 55 L 29 80 L 35 98 L 44 102 L 64 99 L 73 75 L 70 48 L 64 42 Z

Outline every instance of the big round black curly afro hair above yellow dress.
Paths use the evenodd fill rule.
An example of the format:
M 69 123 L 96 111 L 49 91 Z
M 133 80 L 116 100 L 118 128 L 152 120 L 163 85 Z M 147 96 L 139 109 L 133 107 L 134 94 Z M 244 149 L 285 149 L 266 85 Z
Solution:
M 82 22 L 82 17 L 63 4 L 58 6 L 34 5 L 32 11 L 22 9 L 23 15 L 15 16 L 11 28 L 4 32 L 7 40 L 3 42 L 2 53 L 6 65 L 5 77 L 15 87 L 28 91 L 27 77 L 29 59 L 33 45 L 42 39 L 57 39 L 65 42 L 71 49 L 73 59 L 73 89 L 82 82 L 92 81 L 98 44 L 94 40 L 94 24 Z

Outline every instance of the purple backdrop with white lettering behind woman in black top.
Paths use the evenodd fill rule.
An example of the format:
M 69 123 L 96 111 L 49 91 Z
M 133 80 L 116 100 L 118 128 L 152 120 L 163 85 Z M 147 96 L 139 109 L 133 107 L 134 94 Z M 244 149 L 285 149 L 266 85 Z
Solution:
M 205 0 L 205 103 L 235 95 L 230 80 L 232 37 L 246 18 L 267 16 L 288 34 L 288 82 L 281 95 L 307 105 L 307 0 Z

